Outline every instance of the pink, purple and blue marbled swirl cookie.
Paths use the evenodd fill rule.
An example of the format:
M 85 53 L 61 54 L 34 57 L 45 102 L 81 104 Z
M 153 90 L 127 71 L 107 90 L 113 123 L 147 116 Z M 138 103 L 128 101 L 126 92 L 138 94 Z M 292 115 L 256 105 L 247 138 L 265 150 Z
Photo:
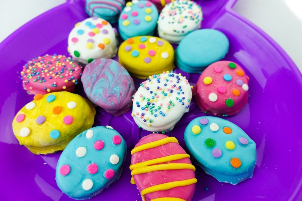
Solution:
M 81 78 L 91 102 L 119 116 L 132 106 L 136 92 L 133 79 L 126 69 L 112 59 L 98 59 L 88 64 Z

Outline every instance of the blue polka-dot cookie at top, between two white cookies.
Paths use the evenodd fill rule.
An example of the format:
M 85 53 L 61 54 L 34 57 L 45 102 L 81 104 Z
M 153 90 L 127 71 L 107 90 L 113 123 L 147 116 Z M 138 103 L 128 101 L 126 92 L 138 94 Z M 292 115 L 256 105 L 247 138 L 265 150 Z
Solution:
M 118 20 L 120 36 L 124 40 L 134 36 L 153 36 L 158 16 L 158 11 L 151 2 L 127 2 Z

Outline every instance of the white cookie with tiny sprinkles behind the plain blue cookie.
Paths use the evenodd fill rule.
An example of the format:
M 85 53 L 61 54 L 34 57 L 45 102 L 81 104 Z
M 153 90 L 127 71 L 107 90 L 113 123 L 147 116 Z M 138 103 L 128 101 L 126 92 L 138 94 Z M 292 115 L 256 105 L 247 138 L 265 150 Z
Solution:
M 159 37 L 179 43 L 186 35 L 201 28 L 201 7 L 188 0 L 176 0 L 162 9 L 158 18 Z

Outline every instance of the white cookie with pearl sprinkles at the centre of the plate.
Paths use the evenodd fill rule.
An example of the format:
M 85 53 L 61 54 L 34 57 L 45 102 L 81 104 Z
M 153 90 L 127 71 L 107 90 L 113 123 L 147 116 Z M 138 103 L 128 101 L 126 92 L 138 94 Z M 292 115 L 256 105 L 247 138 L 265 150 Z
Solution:
M 191 98 L 191 86 L 185 77 L 173 71 L 154 74 L 134 94 L 132 116 L 145 130 L 169 131 L 189 111 Z

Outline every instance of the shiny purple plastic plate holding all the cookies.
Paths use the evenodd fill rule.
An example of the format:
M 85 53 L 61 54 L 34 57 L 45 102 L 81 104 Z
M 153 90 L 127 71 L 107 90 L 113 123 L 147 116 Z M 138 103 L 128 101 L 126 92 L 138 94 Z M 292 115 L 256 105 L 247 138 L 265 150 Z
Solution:
M 236 0 L 199 0 L 203 28 L 222 31 L 230 40 L 225 60 L 241 65 L 250 77 L 251 98 L 229 121 L 241 127 L 257 144 L 252 179 L 236 186 L 219 183 L 197 167 L 198 182 L 192 201 L 302 200 L 302 77 L 293 61 L 276 42 L 248 20 L 232 11 Z M 11 123 L 15 114 L 33 99 L 22 88 L 20 71 L 34 57 L 67 53 L 67 37 L 74 24 L 88 16 L 84 1 L 69 0 L 31 20 L 0 44 L 0 200 L 72 200 L 56 185 L 55 168 L 61 152 L 34 155 L 20 146 Z M 117 59 L 117 58 L 115 58 Z M 179 71 L 179 70 L 176 70 Z M 187 75 L 194 84 L 199 75 Z M 140 80 L 136 80 L 138 83 Z M 76 93 L 84 95 L 81 84 Z M 185 148 L 183 132 L 192 119 L 202 116 L 193 102 L 169 136 Z M 133 123 L 131 111 L 113 117 L 97 108 L 96 125 L 111 125 L 127 142 L 128 155 L 122 176 L 91 200 L 141 200 L 130 184 L 130 150 L 149 134 Z M 208 187 L 208 190 L 206 190 Z

